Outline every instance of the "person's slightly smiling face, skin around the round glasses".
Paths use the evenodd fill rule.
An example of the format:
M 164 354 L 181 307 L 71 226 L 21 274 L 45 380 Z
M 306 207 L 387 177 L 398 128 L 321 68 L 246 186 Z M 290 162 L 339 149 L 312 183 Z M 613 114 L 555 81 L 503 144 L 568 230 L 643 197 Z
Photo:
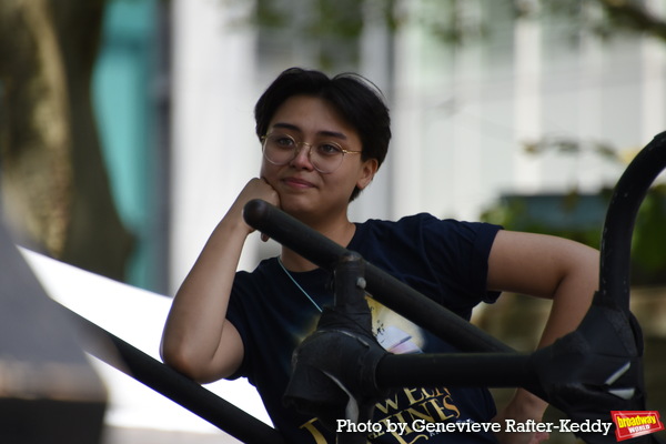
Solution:
M 315 97 L 294 95 L 278 109 L 269 133 L 280 131 L 299 142 L 315 144 L 333 141 L 344 150 L 362 151 L 361 140 L 337 111 Z M 331 173 L 319 172 L 310 162 L 307 145 L 284 165 L 263 159 L 261 175 L 280 194 L 282 209 L 302 220 L 346 218 L 350 195 L 355 186 L 367 186 L 377 170 L 374 159 L 363 161 L 359 154 L 345 154 Z

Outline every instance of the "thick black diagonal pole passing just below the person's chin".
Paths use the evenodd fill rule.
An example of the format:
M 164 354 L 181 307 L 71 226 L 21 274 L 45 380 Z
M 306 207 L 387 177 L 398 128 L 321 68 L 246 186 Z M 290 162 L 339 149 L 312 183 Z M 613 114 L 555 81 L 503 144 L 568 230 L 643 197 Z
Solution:
M 325 270 L 334 271 L 339 258 L 352 253 L 265 201 L 255 199 L 248 202 L 243 216 L 254 229 Z M 379 302 L 462 351 L 514 352 L 500 340 L 367 262 L 365 280 L 367 291 Z

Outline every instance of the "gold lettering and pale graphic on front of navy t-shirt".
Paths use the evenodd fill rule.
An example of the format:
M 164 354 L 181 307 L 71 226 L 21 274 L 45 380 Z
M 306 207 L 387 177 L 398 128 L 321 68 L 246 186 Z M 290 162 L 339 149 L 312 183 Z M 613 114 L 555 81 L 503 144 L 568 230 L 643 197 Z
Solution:
M 372 330 L 377 342 L 389 352 L 395 354 L 422 353 L 427 345 L 424 331 L 394 311 L 371 297 L 366 297 L 372 313 Z M 405 387 L 392 391 L 391 395 L 375 404 L 373 422 L 383 424 L 382 432 L 372 433 L 367 437 L 373 443 L 414 444 L 426 443 L 434 435 L 417 433 L 411 425 L 416 420 L 425 422 L 466 421 L 461 418 L 461 411 L 446 387 Z M 389 424 L 405 424 L 405 428 L 391 431 Z M 316 444 L 329 443 L 324 426 L 317 418 L 312 418 L 300 426 L 312 434 Z

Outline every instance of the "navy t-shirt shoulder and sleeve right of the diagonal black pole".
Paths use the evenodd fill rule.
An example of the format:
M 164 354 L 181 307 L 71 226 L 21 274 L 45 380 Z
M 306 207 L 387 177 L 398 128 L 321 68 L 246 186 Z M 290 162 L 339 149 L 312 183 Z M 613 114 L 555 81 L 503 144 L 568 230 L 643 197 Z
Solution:
M 350 249 L 467 319 L 480 302 L 492 303 L 500 295 L 487 291 L 487 273 L 491 248 L 501 229 L 420 213 L 397 222 L 360 224 Z

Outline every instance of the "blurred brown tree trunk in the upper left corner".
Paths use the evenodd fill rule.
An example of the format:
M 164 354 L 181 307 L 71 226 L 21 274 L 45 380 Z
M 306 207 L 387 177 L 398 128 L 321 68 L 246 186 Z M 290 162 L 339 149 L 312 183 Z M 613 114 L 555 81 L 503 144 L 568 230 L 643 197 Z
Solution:
M 19 242 L 123 280 L 118 215 L 91 103 L 104 0 L 0 2 L 0 168 Z

